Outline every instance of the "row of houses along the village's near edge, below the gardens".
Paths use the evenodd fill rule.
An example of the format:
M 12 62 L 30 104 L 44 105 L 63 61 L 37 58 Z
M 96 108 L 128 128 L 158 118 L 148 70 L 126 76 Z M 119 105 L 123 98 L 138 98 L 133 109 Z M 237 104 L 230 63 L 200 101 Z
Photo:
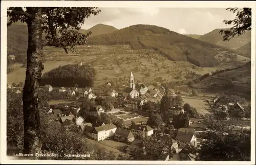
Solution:
M 80 108 L 73 107 L 74 112 L 79 112 Z M 50 109 L 48 115 L 51 120 L 60 122 L 66 126 L 66 129 L 72 127 L 78 128 L 82 133 L 94 140 L 112 139 L 117 142 L 123 142 L 129 144 L 125 149 L 126 153 L 131 153 L 134 149 L 142 146 L 142 139 L 150 136 L 163 140 L 168 146 L 171 146 L 174 153 L 179 153 L 179 150 L 189 146 L 197 147 L 197 137 L 195 135 L 195 129 L 192 128 L 180 128 L 175 138 L 170 137 L 169 134 L 157 134 L 154 129 L 147 125 L 131 125 L 130 128 L 119 128 L 114 124 L 105 123 L 86 123 L 83 117 L 76 116 L 72 112 L 62 112 L 59 109 Z M 182 151 L 182 150 L 181 150 Z M 182 152 L 180 151 L 180 154 Z M 190 153 L 188 153 L 190 154 Z M 188 155 L 187 154 L 187 155 Z M 188 156 L 189 157 L 189 156 Z M 165 157 L 166 158 L 166 157 Z M 167 159 L 167 158 L 166 158 Z

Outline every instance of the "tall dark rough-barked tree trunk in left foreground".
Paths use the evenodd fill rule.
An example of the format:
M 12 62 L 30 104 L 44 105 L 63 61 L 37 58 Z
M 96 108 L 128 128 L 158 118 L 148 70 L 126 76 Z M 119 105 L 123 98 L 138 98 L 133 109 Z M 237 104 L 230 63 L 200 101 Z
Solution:
M 40 116 L 38 109 L 39 82 L 42 69 L 41 8 L 27 8 L 28 24 L 26 80 L 23 89 L 24 153 L 40 153 Z M 35 155 L 35 154 L 34 154 Z

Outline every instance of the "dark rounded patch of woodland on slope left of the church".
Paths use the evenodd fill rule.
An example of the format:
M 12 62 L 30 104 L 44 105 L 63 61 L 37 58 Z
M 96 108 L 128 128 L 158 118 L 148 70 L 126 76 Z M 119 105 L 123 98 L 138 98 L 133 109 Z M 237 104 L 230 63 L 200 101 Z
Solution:
M 59 66 L 45 73 L 40 85 L 70 87 L 77 84 L 79 87 L 92 87 L 94 85 L 95 70 L 87 64 L 68 64 Z

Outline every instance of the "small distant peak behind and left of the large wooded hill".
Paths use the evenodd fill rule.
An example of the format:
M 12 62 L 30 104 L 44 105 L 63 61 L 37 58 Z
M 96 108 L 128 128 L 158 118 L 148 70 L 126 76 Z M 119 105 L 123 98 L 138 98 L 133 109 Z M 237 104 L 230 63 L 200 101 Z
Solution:
M 93 26 L 92 28 L 88 29 L 88 31 L 91 31 L 92 34 L 90 35 L 90 37 L 93 36 L 97 36 L 97 35 L 102 35 L 102 34 L 108 34 L 108 33 L 113 33 L 114 31 L 117 31 L 118 29 L 116 29 L 113 26 L 109 26 L 109 25 L 104 25 L 102 23 L 97 24 L 95 26 Z

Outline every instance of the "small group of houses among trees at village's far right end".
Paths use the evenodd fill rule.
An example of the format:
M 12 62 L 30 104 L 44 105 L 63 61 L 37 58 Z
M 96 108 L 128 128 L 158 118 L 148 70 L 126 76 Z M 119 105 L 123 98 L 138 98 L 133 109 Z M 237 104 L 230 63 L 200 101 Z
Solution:
M 244 108 L 238 102 L 232 102 L 231 100 L 231 98 L 216 97 L 214 105 L 219 108 L 218 111 L 227 112 L 230 117 L 244 116 Z

